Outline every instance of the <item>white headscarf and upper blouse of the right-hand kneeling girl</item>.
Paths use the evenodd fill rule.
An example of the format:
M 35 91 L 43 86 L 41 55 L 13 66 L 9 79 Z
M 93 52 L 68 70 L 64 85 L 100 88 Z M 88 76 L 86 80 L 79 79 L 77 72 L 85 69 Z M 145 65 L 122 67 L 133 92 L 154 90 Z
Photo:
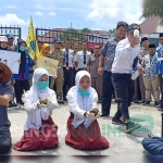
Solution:
M 80 79 L 84 76 L 88 76 L 90 79 L 90 74 L 87 71 L 79 71 L 76 74 L 75 77 L 75 82 L 76 82 L 76 86 L 72 87 L 67 93 L 67 100 L 68 101 L 76 101 L 78 104 L 78 108 L 88 112 L 91 109 L 95 109 L 97 106 L 97 100 L 98 100 L 98 95 L 96 92 L 96 90 L 91 87 L 88 88 L 89 90 L 89 96 L 88 97 L 84 97 L 78 92 L 78 88 L 79 88 L 79 83 Z M 91 82 L 91 79 L 90 79 Z M 73 120 L 73 125 L 74 127 L 77 127 L 79 124 L 82 124 L 83 122 L 85 122 L 85 126 L 88 127 L 91 123 L 92 120 L 89 118 L 84 118 L 84 117 L 78 117 L 77 115 L 74 115 L 74 120 Z

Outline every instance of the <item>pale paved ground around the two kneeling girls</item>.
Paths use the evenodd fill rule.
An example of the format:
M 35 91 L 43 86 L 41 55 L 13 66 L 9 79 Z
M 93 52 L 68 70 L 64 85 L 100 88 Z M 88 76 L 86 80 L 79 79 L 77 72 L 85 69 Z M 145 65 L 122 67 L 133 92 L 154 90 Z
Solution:
M 99 109 L 101 105 L 99 104 Z M 137 130 L 133 135 L 126 135 L 124 133 L 125 128 L 121 126 L 115 126 L 111 124 L 112 116 L 116 111 L 116 104 L 112 104 L 111 116 L 100 117 L 99 124 L 101 127 L 101 133 L 110 142 L 110 148 L 101 151 L 79 151 L 73 149 L 65 145 L 64 137 L 66 135 L 66 120 L 70 115 L 68 106 L 60 105 L 55 109 L 52 114 L 52 118 L 59 126 L 59 140 L 60 146 L 52 150 L 41 150 L 33 152 L 18 152 L 12 150 L 12 155 L 143 155 L 148 154 L 141 147 L 141 140 L 143 137 L 150 133 L 160 136 L 161 135 L 161 112 L 153 106 L 143 106 L 140 104 L 133 104 L 130 106 L 130 116 L 134 121 L 141 123 L 143 126 L 141 129 Z M 11 134 L 12 143 L 18 141 L 23 135 L 23 126 L 26 121 L 27 114 L 24 109 L 12 110 L 9 112 L 9 118 L 11 121 Z

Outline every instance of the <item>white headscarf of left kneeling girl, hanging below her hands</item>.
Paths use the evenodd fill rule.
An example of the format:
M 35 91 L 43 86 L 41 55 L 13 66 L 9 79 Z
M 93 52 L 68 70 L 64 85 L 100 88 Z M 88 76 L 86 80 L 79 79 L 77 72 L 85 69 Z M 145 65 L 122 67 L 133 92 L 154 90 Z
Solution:
M 33 86 L 30 87 L 30 90 L 28 91 L 28 96 L 30 97 L 30 102 L 36 103 L 38 100 L 42 100 L 47 97 L 50 97 L 50 88 L 46 88 L 45 90 L 39 90 L 37 88 L 37 82 L 42 75 L 47 75 L 49 78 L 49 74 L 45 68 L 36 68 L 33 76 Z M 48 108 L 41 108 L 38 111 L 34 112 L 33 114 L 29 114 L 26 122 L 25 128 L 30 126 L 33 124 L 33 127 L 36 129 L 39 129 L 41 127 L 41 120 L 48 120 L 48 117 L 52 114 L 52 111 L 50 111 Z M 28 124 L 27 124 L 28 123 Z

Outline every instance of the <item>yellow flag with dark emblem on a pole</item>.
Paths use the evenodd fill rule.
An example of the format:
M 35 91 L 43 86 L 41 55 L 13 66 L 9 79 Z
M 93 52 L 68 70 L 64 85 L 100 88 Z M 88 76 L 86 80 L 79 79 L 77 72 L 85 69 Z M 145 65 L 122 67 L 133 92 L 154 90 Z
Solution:
M 30 17 L 30 23 L 29 23 L 29 27 L 28 27 L 28 36 L 26 39 L 26 43 L 28 47 L 28 53 L 29 57 L 34 60 L 35 58 L 37 60 L 39 60 L 40 58 L 40 53 L 38 50 L 38 45 L 36 41 L 36 36 L 35 36 L 35 32 L 34 32 L 34 25 L 33 25 L 33 18 Z

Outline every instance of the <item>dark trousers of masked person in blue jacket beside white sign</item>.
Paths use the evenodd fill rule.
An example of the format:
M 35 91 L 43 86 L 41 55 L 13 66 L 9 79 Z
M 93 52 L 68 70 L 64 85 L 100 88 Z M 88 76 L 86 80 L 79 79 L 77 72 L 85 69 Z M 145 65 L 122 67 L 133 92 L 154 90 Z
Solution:
M 28 79 L 25 80 L 15 80 L 15 96 L 16 96 L 16 102 L 21 103 L 22 100 L 22 93 L 23 89 L 25 91 L 29 90 L 29 82 Z

